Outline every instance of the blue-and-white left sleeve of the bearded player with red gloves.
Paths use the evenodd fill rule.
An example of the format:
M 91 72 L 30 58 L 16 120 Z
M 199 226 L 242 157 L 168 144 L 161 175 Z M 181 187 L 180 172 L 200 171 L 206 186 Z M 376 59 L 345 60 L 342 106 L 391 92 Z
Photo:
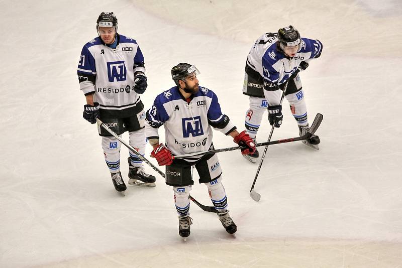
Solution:
M 158 128 L 169 119 L 169 115 L 160 100 L 161 95 L 158 95 L 151 108 L 146 112 L 145 121 L 147 124 L 145 124 L 145 133 L 148 140 L 159 140 Z

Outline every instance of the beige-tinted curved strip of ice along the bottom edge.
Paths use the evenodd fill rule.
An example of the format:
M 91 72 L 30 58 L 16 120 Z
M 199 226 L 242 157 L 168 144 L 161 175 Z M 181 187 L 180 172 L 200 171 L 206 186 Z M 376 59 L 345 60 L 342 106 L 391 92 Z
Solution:
M 41 267 L 398 267 L 402 244 L 363 240 L 278 238 L 196 242 L 102 254 Z M 183 253 L 185 252 L 185 253 Z

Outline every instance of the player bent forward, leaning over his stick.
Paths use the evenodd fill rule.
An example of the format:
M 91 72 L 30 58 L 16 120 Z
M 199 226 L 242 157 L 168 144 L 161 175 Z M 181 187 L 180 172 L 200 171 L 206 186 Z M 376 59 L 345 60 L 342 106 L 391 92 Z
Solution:
M 322 49 L 319 40 L 300 38 L 292 26 L 281 28 L 277 33 L 263 34 L 255 42 L 247 57 L 243 84 L 243 94 L 250 100 L 245 125 L 254 142 L 265 110 L 268 110 L 271 125 L 279 127 L 282 123 L 279 103 L 286 81 L 285 97 L 296 119 L 299 135 L 309 130 L 307 106 L 298 73 L 305 70 L 312 59 L 320 57 Z M 303 142 L 319 149 L 320 139 L 316 135 Z M 245 157 L 255 163 L 258 151 Z

